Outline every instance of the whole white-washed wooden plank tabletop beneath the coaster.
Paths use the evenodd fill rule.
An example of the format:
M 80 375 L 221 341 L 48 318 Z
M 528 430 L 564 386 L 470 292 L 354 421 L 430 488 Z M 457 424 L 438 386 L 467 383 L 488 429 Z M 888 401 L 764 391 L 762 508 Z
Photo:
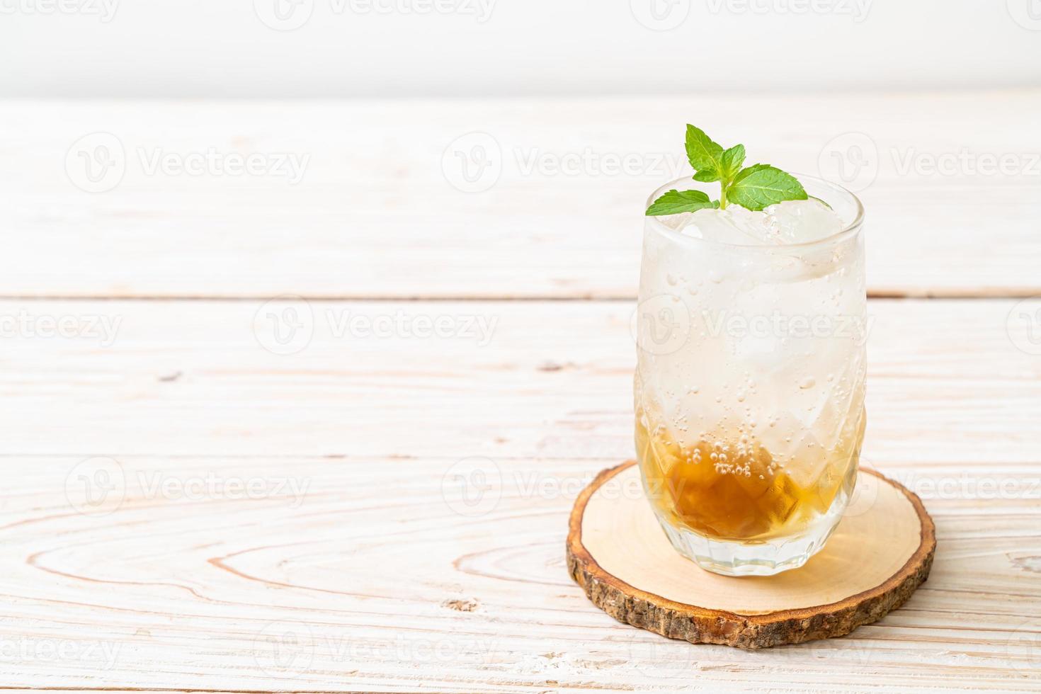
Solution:
M 0 688 L 1041 691 L 1039 111 L 0 103 Z M 671 642 L 564 568 L 633 453 L 640 206 L 687 121 L 862 188 L 864 455 L 939 547 L 844 639 Z

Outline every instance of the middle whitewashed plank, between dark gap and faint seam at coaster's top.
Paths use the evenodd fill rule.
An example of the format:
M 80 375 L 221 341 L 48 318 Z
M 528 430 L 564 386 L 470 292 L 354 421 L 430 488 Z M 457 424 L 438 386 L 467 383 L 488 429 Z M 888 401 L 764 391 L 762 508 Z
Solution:
M 866 464 L 988 461 L 981 470 L 992 471 L 1041 460 L 1041 360 L 1010 339 L 1014 306 L 870 303 Z M 299 315 L 312 334 L 295 354 L 262 346 L 258 336 L 273 334 L 257 323 L 266 310 L 242 301 L 0 302 L 0 316 L 30 325 L 118 324 L 107 346 L 90 336 L 4 344 L 6 451 L 632 456 L 632 303 L 311 302 L 310 317 L 305 306 Z M 446 336 L 417 336 L 421 318 L 445 318 Z M 1014 328 L 1021 339 L 1031 327 Z

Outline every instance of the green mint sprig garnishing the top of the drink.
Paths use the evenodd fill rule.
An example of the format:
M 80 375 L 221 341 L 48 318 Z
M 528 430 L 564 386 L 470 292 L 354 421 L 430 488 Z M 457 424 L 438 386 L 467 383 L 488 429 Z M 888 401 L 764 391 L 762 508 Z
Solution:
M 734 203 L 753 211 L 786 200 L 806 200 L 806 190 L 794 176 L 765 163 L 742 169 L 744 145 L 725 150 L 701 128 L 687 125 L 687 159 L 694 180 L 719 181 L 719 200 L 701 190 L 669 190 L 648 208 L 649 216 L 693 212 L 706 207 L 725 209 Z

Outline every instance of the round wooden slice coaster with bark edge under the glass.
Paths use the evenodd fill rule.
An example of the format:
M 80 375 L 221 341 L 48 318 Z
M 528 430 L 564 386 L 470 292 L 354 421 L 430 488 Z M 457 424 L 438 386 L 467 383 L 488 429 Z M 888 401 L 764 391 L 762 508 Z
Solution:
M 621 622 L 691 643 L 764 648 L 881 619 L 929 576 L 935 549 L 921 500 L 861 468 L 847 512 L 805 566 L 718 575 L 672 548 L 629 461 L 602 471 L 575 502 L 567 567 L 592 603 Z

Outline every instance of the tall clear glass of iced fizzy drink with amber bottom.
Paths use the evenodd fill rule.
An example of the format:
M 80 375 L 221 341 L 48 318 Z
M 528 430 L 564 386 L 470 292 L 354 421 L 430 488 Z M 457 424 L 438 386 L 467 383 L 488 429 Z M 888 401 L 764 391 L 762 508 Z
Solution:
M 844 228 L 737 246 L 646 217 L 637 309 L 636 452 L 672 546 L 703 568 L 802 566 L 841 518 L 864 436 L 863 208 L 798 176 Z M 681 179 L 671 188 L 711 186 Z M 706 186 L 703 188 L 703 186 Z

